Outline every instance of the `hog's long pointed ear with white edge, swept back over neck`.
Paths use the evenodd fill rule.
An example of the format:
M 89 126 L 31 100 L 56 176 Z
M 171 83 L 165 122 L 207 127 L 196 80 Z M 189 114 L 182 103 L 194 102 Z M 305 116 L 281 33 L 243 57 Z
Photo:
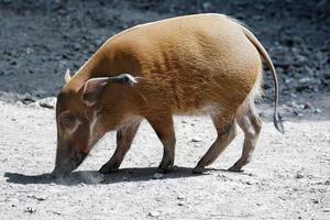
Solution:
M 99 96 L 102 94 L 103 89 L 110 82 L 118 82 L 118 84 L 128 84 L 133 86 L 138 84 L 138 77 L 133 77 L 129 74 L 121 74 L 116 77 L 99 77 L 99 78 L 91 78 L 86 81 L 82 91 L 82 101 L 87 106 L 94 106 Z

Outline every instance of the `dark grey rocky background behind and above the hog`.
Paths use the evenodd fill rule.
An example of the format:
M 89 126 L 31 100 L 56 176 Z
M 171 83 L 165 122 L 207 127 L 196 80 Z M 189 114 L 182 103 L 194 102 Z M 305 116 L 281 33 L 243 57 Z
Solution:
M 76 72 L 113 34 L 202 12 L 230 14 L 253 30 L 276 66 L 283 102 L 330 91 L 328 0 L 0 0 L 0 97 L 56 96 L 66 68 Z M 273 81 L 265 76 L 270 101 Z

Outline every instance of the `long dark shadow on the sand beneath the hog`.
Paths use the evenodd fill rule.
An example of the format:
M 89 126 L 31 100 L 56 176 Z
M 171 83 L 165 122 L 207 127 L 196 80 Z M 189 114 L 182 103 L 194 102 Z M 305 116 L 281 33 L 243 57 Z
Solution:
M 118 173 L 109 175 L 101 175 L 97 170 L 78 170 L 74 172 L 66 177 L 54 178 L 51 174 L 41 175 L 24 175 L 19 173 L 4 173 L 7 183 L 13 184 L 56 184 L 56 185 L 96 185 L 96 184 L 116 184 L 121 182 L 147 182 L 155 179 L 169 179 L 169 178 L 186 178 L 196 177 L 199 175 L 193 174 L 191 168 L 175 167 L 175 170 L 167 174 L 158 174 L 156 167 L 147 168 L 122 168 Z M 212 172 L 227 172 L 226 169 L 206 168 L 205 174 L 209 175 Z

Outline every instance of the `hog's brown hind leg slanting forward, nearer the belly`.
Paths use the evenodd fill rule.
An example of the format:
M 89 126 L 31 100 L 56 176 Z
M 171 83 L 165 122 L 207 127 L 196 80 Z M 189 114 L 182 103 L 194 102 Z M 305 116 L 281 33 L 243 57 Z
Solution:
M 213 163 L 237 135 L 233 113 L 222 112 L 219 116 L 212 116 L 212 121 L 217 129 L 218 138 L 193 169 L 195 174 L 201 174 L 206 166 Z

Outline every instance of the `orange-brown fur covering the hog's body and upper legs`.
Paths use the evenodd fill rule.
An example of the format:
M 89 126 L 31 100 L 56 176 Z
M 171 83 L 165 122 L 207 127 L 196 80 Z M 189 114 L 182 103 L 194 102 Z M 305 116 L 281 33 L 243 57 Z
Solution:
M 220 136 L 234 133 L 237 114 L 248 108 L 248 102 L 253 102 L 253 90 L 258 88 L 262 78 L 261 52 L 251 36 L 246 36 L 246 31 L 226 15 L 205 14 L 141 25 L 111 37 L 61 91 L 57 120 L 63 111 L 69 110 L 85 127 L 81 125 L 80 133 L 70 140 L 65 141 L 58 134 L 59 142 L 66 142 L 70 151 L 88 154 L 99 138 L 117 130 L 120 152 L 103 168 L 107 173 L 116 168 L 112 167 L 114 163 L 120 164 L 144 118 L 164 144 L 161 167 L 166 169 L 173 162 L 166 162 L 165 157 L 174 157 L 172 116 L 201 112 L 213 118 L 219 134 L 213 145 L 219 148 L 221 143 L 224 145 Z M 84 86 L 89 79 L 124 73 L 136 77 L 138 84 L 109 84 L 97 103 L 84 103 Z M 95 111 L 99 116 L 94 128 L 97 136 L 89 136 L 88 125 Z M 63 129 L 58 125 L 58 130 Z M 82 140 L 92 139 L 92 143 L 81 143 L 84 135 Z M 123 135 L 125 140 L 120 142 Z M 229 136 L 233 139 L 234 135 Z M 221 151 L 217 150 L 216 154 Z M 199 168 L 205 165 L 206 162 L 201 163 Z

